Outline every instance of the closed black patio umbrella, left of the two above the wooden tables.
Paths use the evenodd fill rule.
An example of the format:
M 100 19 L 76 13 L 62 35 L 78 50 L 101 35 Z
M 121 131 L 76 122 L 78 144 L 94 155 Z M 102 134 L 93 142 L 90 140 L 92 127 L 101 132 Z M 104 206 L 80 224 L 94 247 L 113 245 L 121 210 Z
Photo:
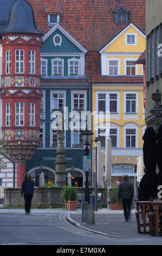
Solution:
M 155 149 L 157 138 L 153 127 L 147 127 L 142 139 L 144 140 L 143 153 L 146 173 L 142 177 L 139 186 L 145 197 L 155 198 L 155 182 L 157 177 L 157 173 L 155 172 Z

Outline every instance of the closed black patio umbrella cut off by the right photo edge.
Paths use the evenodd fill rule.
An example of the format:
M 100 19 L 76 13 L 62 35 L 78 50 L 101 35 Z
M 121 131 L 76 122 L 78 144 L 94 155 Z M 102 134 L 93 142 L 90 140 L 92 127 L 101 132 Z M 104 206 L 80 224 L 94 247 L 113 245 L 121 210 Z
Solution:
M 157 165 L 159 168 L 159 173 L 157 175 L 156 180 L 156 188 L 158 188 L 159 185 L 162 185 L 162 125 L 160 125 L 159 130 L 157 132 L 157 147 L 155 150 L 155 156 Z M 158 191 L 157 191 L 158 192 Z

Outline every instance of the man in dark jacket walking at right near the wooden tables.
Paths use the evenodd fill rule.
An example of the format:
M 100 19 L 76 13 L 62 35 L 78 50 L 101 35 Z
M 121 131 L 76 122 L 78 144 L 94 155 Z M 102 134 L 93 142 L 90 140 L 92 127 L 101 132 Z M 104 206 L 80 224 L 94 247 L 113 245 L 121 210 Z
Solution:
M 123 181 L 120 182 L 118 188 L 118 199 L 122 200 L 122 205 L 124 209 L 125 221 L 128 221 L 130 211 L 131 211 L 131 203 L 132 198 L 134 197 L 134 188 L 131 182 L 128 180 L 128 176 L 125 175 L 123 177 Z

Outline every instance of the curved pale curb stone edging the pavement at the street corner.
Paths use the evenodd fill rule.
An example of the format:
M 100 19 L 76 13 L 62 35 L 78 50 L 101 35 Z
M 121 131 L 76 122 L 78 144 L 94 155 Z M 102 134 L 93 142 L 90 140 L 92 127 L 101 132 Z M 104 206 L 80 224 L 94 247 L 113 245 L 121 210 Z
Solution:
M 86 227 L 83 227 L 79 222 L 76 222 L 74 221 L 71 217 L 70 217 L 70 212 L 67 213 L 66 215 L 66 219 L 67 221 L 72 224 L 72 225 L 75 225 L 77 228 L 82 228 L 82 229 L 85 229 L 87 231 L 90 231 L 90 232 L 93 232 L 93 233 L 96 233 L 96 234 L 99 234 L 99 235 L 104 235 L 104 236 L 108 236 L 108 237 L 112 237 L 112 238 L 139 238 L 137 236 L 115 236 L 115 235 L 109 235 L 107 233 L 102 233 L 100 231 L 96 231 L 94 229 L 89 229 L 89 228 L 86 228 Z

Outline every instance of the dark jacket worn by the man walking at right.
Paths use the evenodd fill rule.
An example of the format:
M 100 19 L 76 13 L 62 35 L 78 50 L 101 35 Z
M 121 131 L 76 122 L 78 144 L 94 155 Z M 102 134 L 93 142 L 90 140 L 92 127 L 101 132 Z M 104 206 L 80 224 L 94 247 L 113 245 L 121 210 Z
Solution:
M 134 197 L 134 188 L 131 182 L 124 180 L 119 184 L 118 198 L 131 199 Z

